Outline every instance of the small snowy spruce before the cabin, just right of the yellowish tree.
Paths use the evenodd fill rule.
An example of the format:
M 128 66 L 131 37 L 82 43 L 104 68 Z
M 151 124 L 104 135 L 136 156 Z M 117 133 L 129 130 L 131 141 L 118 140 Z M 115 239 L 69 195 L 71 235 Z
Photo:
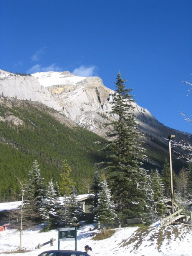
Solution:
M 68 226 L 78 226 L 81 216 L 84 211 L 81 208 L 81 203 L 77 200 L 77 191 L 73 186 L 67 202 L 67 223 Z

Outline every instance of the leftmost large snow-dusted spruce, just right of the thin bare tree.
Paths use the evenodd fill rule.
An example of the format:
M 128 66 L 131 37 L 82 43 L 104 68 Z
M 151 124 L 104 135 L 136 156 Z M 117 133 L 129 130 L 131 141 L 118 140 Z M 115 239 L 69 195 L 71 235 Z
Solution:
M 25 210 L 27 210 L 26 208 L 31 209 L 31 219 L 33 220 L 41 218 L 39 209 L 42 206 L 44 198 L 45 185 L 43 178 L 41 178 L 40 171 L 38 162 L 35 160 L 28 173 L 29 180 L 25 188 L 26 192 L 23 208 L 25 208 Z

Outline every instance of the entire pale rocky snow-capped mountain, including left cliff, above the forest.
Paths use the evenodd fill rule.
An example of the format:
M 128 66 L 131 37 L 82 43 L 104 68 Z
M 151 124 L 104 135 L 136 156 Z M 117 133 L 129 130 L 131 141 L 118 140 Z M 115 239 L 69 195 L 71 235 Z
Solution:
M 104 86 L 98 76 L 81 77 L 69 71 L 38 72 L 31 76 L 21 76 L 0 70 L 0 95 L 40 101 L 100 136 L 106 134 L 104 124 L 115 118 L 109 115 L 113 90 Z M 134 106 L 139 128 L 144 134 L 164 143 L 167 143 L 164 138 L 168 138 L 170 134 L 175 134 L 177 140 L 184 137 L 185 141 L 186 138 L 190 139 L 189 133 L 166 127 L 147 109 L 136 103 Z

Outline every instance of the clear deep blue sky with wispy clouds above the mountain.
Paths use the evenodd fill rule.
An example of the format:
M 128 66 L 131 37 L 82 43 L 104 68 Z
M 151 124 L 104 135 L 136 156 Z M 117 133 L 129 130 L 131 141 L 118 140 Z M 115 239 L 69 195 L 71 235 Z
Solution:
M 118 72 L 137 104 L 192 133 L 191 0 L 1 0 L 0 68 L 99 76 Z

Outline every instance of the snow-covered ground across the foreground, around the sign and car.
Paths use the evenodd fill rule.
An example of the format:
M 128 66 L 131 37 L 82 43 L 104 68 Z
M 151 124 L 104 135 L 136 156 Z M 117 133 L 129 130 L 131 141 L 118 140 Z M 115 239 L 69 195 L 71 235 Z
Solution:
M 77 249 L 84 251 L 84 246 L 93 248 L 95 256 L 191 256 L 192 255 L 192 227 L 177 225 L 159 227 L 152 226 L 141 231 L 138 227 L 118 228 L 111 238 L 95 241 L 93 235 L 99 232 L 93 230 L 96 224 L 86 224 L 78 229 Z M 26 253 L 12 253 L 12 256 L 37 256 L 43 251 L 58 249 L 58 230 L 40 233 L 38 225 L 30 230 L 23 231 L 22 248 L 30 250 Z M 90 228 L 92 231 L 90 231 Z M 54 245 L 45 245 L 35 249 L 38 243 L 45 243 L 51 238 L 56 239 Z M 19 232 L 7 229 L 0 232 L 1 256 L 8 251 L 17 250 L 19 247 Z M 60 242 L 60 249 L 75 249 L 75 241 Z M 7 253 L 6 253 L 7 252 Z

